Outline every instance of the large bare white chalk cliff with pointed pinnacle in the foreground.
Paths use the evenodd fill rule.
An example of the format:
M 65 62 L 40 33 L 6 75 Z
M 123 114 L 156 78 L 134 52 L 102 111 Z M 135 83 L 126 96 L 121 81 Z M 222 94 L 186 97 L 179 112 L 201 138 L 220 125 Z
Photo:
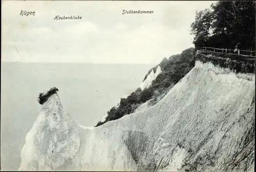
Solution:
M 254 78 L 196 61 L 154 106 L 95 128 L 73 121 L 55 93 L 19 170 L 254 171 Z

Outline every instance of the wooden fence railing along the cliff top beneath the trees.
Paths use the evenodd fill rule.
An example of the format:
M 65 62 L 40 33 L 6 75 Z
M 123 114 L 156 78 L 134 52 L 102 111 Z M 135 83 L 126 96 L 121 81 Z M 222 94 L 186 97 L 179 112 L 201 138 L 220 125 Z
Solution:
M 238 56 L 247 56 L 247 57 L 256 57 L 255 51 L 248 50 L 232 50 L 232 49 L 220 49 L 220 48 L 212 48 L 212 47 L 201 47 L 202 50 L 211 51 L 215 53 L 223 53 L 223 54 L 233 54 Z

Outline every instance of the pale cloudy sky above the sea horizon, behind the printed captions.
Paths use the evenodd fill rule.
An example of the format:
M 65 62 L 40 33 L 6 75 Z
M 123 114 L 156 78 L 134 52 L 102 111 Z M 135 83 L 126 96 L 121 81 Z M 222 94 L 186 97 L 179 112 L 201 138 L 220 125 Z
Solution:
M 2 1 L 1 60 L 157 64 L 194 47 L 190 25 L 196 11 L 212 3 L 216 1 Z M 35 14 L 22 16 L 21 10 Z M 56 15 L 82 18 L 55 20 Z

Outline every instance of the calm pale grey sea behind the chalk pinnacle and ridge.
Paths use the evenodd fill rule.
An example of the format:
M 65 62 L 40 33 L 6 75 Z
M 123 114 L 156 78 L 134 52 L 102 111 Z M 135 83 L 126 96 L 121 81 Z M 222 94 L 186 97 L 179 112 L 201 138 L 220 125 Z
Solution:
M 72 119 L 95 126 L 135 91 L 155 64 L 1 63 L 1 169 L 17 170 L 25 137 L 39 115 L 40 92 L 56 87 Z

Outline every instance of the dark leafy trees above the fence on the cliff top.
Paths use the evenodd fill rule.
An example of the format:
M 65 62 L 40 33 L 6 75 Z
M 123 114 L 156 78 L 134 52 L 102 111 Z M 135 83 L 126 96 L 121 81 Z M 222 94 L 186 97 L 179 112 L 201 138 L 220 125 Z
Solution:
M 191 24 L 195 48 L 255 50 L 255 2 L 219 1 L 197 11 Z

